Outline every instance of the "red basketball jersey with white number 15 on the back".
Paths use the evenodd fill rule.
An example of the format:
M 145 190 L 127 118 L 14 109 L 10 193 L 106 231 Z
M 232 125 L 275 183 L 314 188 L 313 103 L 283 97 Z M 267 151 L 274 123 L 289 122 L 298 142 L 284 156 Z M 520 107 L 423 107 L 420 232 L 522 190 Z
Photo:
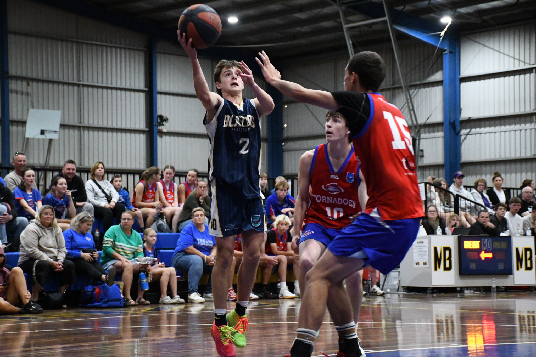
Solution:
M 404 116 L 379 93 L 368 93 L 370 117 L 353 137 L 363 168 L 370 213 L 378 208 L 383 221 L 425 215 L 415 166 L 412 138 Z

